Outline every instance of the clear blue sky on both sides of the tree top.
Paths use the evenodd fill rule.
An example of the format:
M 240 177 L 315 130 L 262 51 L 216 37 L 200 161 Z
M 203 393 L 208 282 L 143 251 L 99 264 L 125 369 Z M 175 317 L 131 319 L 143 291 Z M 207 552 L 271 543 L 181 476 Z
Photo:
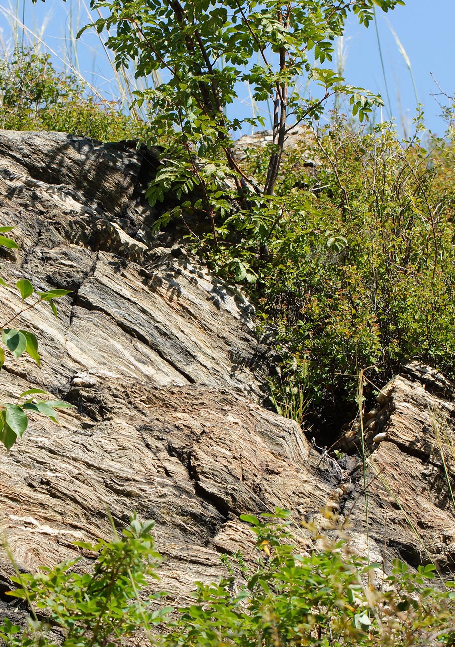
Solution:
M 23 1 L 26 26 L 34 33 L 39 33 L 41 25 L 46 23 L 42 40 L 61 59 L 68 60 L 71 46 L 69 41 L 65 41 L 65 30 L 68 32 L 72 26 L 76 32 L 87 22 L 83 0 L 68 0 L 67 3 L 47 0 L 44 5 L 38 0 L 36 6 L 32 5 L 32 0 L 0 0 L 0 38 L 6 45 L 12 41 L 13 19 L 8 14 L 18 12 L 21 19 Z M 71 8 L 72 25 L 68 17 Z M 344 38 L 346 79 L 352 85 L 381 93 L 386 102 L 384 118 L 391 113 L 397 124 L 409 127 L 416 109 L 416 93 L 405 59 L 392 33 L 394 30 L 412 65 L 417 96 L 425 106 L 426 125 L 441 135 L 444 126 L 438 117 L 440 109 L 431 96 L 439 90 L 431 73 L 447 94 L 455 93 L 455 0 L 408 0 L 406 6 L 399 6 L 388 14 L 378 10 L 377 18 L 390 104 L 374 25 L 367 30 L 360 27 L 355 19 L 350 19 Z M 94 34 L 85 36 L 77 49 L 78 65 L 83 76 L 108 92 L 113 72 L 105 63 L 97 37 Z M 72 56 L 74 58 L 74 51 Z M 56 67 L 59 65 L 60 61 L 56 61 Z M 116 98 L 115 90 L 113 94 L 113 98 Z M 246 94 L 243 96 L 248 99 Z M 446 100 L 444 97 L 440 99 Z M 240 104 L 238 111 L 243 107 L 245 104 Z

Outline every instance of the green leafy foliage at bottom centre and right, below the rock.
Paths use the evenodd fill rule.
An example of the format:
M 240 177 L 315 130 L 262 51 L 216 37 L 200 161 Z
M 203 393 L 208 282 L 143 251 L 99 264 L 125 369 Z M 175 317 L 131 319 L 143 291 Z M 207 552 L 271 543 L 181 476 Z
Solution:
M 276 515 L 284 522 L 276 523 Z M 384 590 L 378 590 L 370 585 L 377 565 L 350 554 L 343 542 L 298 551 L 284 510 L 241 518 L 258 536 L 255 572 L 245 572 L 238 560 L 245 584 L 233 592 L 239 569 L 225 560 L 231 577 L 197 584 L 194 604 L 179 609 L 175 628 L 164 637 L 166 647 L 405 646 L 427 644 L 429 637 L 443 644 L 453 639 L 452 595 L 425 586 L 434 578 L 432 565 L 411 574 L 395 562 L 394 573 L 384 576 Z

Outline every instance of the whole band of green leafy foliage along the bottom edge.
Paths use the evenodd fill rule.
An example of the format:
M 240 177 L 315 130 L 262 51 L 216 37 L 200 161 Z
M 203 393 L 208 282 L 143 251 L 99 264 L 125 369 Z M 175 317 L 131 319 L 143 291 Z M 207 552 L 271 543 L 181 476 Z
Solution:
M 197 583 L 192 603 L 172 616 L 172 608 L 158 604 L 164 594 L 140 599 L 159 556 L 153 523 L 133 516 L 111 543 L 76 544 L 96 554 L 89 573 L 79 572 L 76 560 L 15 577 L 20 588 L 10 595 L 45 609 L 50 624 L 30 620 L 23 630 L 6 620 L 0 637 L 11 647 L 54 647 L 54 626 L 63 631 L 62 647 L 115 647 L 128 638 L 161 647 L 453 644 L 454 583 L 442 591 L 430 586 L 432 565 L 410 573 L 395 562 L 375 589 L 377 565 L 350 554 L 343 542 L 299 550 L 284 510 L 242 518 L 257 535 L 256 560 L 223 556 L 228 576 Z

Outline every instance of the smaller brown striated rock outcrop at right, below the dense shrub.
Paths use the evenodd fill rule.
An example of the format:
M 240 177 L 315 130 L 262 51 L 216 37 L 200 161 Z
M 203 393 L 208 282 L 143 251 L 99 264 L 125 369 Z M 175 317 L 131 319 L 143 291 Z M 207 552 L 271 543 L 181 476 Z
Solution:
M 441 373 L 413 362 L 364 415 L 369 531 L 389 567 L 398 556 L 413 567 L 432 561 L 441 573 L 455 572 L 453 400 L 453 386 Z M 359 421 L 334 448 L 361 452 Z M 366 508 L 362 496 L 355 519 L 365 531 Z

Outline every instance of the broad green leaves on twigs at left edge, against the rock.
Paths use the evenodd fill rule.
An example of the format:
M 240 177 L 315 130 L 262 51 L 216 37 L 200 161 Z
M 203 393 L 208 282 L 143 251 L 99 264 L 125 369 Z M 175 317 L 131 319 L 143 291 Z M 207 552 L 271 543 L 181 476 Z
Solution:
M 10 232 L 13 227 L 0 227 L 0 245 L 8 249 L 17 249 L 17 243 L 6 234 Z M 2 278 L 0 278 L 0 285 L 3 287 L 10 287 Z M 8 327 L 10 323 L 19 317 L 22 313 L 36 307 L 41 302 L 47 302 L 52 309 L 52 312 L 57 317 L 57 307 L 54 299 L 58 299 L 66 294 L 69 290 L 49 290 L 45 292 L 35 291 L 32 283 L 28 279 L 20 279 L 16 283 L 16 289 L 22 299 L 21 310 L 13 314 L 9 320 L 0 324 L 1 339 L 7 351 L 11 353 L 14 359 L 19 359 L 21 355 L 27 353 L 32 360 L 41 366 L 41 357 L 38 353 L 38 339 L 33 333 L 28 330 L 17 330 L 16 328 Z M 25 302 L 25 300 L 36 294 L 33 302 Z M 0 346 L 0 371 L 5 364 L 6 355 L 5 350 Z M 28 426 L 28 415 L 31 411 L 45 415 L 52 421 L 58 422 L 56 417 L 56 409 L 58 408 L 71 408 L 72 405 L 62 400 L 36 400 L 34 398 L 38 393 L 46 393 L 43 389 L 27 389 L 19 395 L 16 403 L 0 402 L 0 442 L 3 443 L 7 450 L 10 450 L 18 438 L 21 438 Z M 31 398 L 27 396 L 32 396 Z

